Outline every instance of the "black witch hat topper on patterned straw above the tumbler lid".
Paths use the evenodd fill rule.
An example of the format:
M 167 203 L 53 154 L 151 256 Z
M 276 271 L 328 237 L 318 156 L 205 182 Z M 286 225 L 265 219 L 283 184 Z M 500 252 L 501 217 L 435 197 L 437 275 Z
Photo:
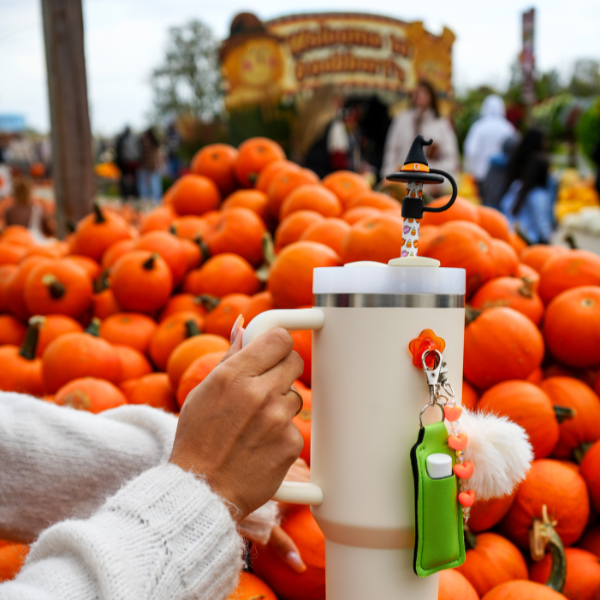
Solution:
M 456 200 L 458 190 L 454 178 L 445 171 L 434 169 L 429 166 L 423 146 L 430 146 L 433 140 L 425 140 L 418 135 L 408 151 L 404 166 L 398 173 L 387 175 L 390 181 L 402 181 L 406 183 L 406 196 L 402 200 L 402 217 L 404 226 L 402 228 L 402 249 L 400 256 L 417 256 L 419 253 L 419 226 L 424 212 L 443 212 L 448 210 Z M 444 177 L 452 186 L 452 196 L 444 206 L 429 207 L 423 201 L 423 185 L 432 183 L 443 183 Z

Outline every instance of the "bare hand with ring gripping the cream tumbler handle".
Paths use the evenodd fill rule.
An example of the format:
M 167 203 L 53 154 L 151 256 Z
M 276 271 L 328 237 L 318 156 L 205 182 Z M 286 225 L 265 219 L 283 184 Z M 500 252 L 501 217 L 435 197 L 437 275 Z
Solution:
M 277 328 L 240 349 L 238 333 L 179 416 L 170 462 L 202 475 L 236 521 L 273 496 L 302 450 L 290 386 L 304 364 L 293 345 Z

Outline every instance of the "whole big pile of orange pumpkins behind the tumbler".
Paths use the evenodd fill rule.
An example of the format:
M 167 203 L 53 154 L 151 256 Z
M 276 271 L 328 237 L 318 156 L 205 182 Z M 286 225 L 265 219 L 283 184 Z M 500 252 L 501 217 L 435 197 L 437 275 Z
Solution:
M 359 175 L 319 181 L 264 138 L 207 146 L 139 226 L 95 206 L 64 241 L 3 231 L 0 389 L 96 413 L 125 403 L 178 412 L 226 352 L 239 314 L 247 324 L 311 305 L 314 268 L 387 263 L 402 228 L 397 199 Z M 440 598 L 594 600 L 600 257 L 527 247 L 500 213 L 462 198 L 426 214 L 419 254 L 466 270 L 463 404 L 523 426 L 536 459 L 511 496 L 475 503 L 467 560 L 442 573 Z M 292 335 L 305 361 L 295 422 L 310 464 L 311 334 Z M 310 511 L 290 508 L 282 526 L 307 570 L 256 548 L 236 598 L 324 596 L 324 539 Z M 0 578 L 23 551 L 0 548 Z

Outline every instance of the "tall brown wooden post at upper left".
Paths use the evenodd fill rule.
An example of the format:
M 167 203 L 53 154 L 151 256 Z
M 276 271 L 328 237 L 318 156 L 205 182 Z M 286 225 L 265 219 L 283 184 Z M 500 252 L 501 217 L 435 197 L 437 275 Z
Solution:
M 41 0 L 59 237 L 95 197 L 81 1 Z

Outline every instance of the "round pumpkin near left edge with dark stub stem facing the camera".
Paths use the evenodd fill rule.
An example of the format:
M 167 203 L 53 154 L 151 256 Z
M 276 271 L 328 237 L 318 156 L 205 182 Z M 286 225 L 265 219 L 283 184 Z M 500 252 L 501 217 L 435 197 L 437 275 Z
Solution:
M 92 303 L 92 280 L 65 259 L 48 259 L 31 269 L 23 296 L 32 315 L 80 317 Z

